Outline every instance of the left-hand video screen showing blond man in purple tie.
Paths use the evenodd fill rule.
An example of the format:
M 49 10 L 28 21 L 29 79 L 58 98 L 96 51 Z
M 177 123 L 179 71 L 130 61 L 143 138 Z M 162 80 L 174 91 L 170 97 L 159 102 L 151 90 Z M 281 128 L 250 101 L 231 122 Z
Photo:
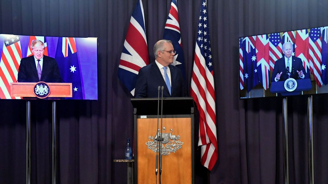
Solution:
M 45 82 L 52 96 L 56 90 L 70 94 L 58 99 L 98 100 L 97 38 L 0 34 L 0 43 L 0 99 L 46 93 L 46 84 L 33 88 Z

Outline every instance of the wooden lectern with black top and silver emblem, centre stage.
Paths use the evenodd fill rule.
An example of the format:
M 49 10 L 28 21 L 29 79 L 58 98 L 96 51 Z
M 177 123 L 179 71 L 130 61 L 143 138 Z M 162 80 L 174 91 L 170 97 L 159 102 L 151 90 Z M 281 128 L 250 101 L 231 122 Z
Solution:
M 155 175 L 157 98 L 131 99 L 134 108 L 134 183 L 159 183 Z M 162 131 L 161 183 L 194 184 L 194 101 L 187 98 L 161 100 L 158 127 Z M 161 133 L 159 131 L 159 133 Z

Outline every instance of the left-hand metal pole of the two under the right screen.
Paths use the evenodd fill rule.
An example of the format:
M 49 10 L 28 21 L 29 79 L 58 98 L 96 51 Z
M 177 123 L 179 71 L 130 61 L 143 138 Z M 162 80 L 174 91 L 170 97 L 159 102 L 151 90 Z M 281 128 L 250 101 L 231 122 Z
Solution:
M 284 136 L 283 136 L 283 145 L 284 145 L 284 183 L 289 184 L 289 174 L 288 174 L 288 120 L 287 120 L 287 97 L 282 99 L 282 113 L 283 113 L 283 122 L 284 122 Z

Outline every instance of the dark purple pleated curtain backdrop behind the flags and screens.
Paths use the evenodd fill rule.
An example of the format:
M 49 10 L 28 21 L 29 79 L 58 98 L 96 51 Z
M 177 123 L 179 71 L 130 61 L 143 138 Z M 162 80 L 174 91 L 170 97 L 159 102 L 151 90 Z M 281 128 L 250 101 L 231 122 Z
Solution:
M 98 101 L 58 101 L 58 183 L 126 183 L 126 138 L 133 137 L 130 94 L 117 68 L 136 0 L 0 2 L 0 33 L 98 37 Z M 144 0 L 149 52 L 161 39 L 170 0 Z M 201 1 L 178 0 L 187 86 Z M 218 160 L 196 183 L 283 183 L 282 99 L 239 98 L 238 37 L 328 25 L 328 2 L 208 0 Z M 150 54 L 150 61 L 154 56 Z M 189 91 L 189 89 L 188 89 Z M 328 183 L 327 95 L 313 96 L 315 183 Z M 51 101 L 32 101 L 32 183 L 51 183 Z M 25 183 L 25 101 L 0 101 L 0 183 Z M 288 98 L 290 183 L 308 183 L 307 98 Z M 197 123 L 195 128 L 198 127 Z

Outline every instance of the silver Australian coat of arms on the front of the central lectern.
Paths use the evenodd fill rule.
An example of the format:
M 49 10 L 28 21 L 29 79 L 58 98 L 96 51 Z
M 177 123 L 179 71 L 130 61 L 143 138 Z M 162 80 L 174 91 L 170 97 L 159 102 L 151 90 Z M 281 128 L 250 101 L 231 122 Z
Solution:
M 165 130 L 165 127 L 163 127 Z M 177 150 L 182 148 L 183 142 L 180 141 L 180 135 L 173 135 L 173 129 L 170 129 L 171 133 L 162 133 L 162 142 L 159 146 L 161 146 L 161 154 L 162 155 L 170 155 L 172 152 L 175 153 Z M 152 150 L 154 153 L 158 152 L 159 146 L 157 146 L 157 138 L 160 137 L 160 132 L 157 130 L 157 134 L 155 136 L 149 136 L 148 142 L 146 142 L 147 148 Z

